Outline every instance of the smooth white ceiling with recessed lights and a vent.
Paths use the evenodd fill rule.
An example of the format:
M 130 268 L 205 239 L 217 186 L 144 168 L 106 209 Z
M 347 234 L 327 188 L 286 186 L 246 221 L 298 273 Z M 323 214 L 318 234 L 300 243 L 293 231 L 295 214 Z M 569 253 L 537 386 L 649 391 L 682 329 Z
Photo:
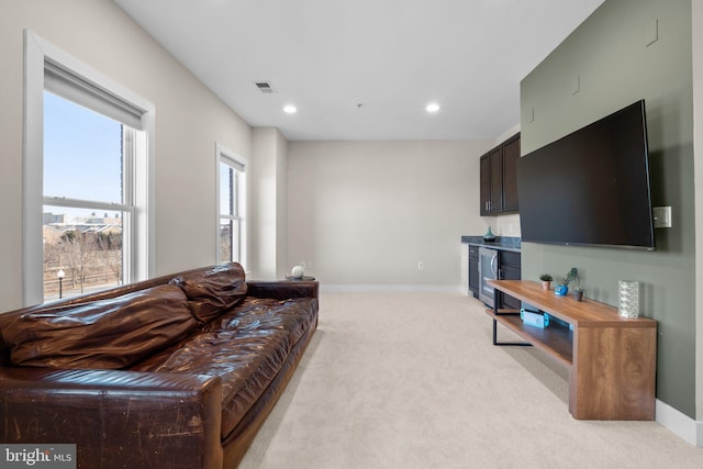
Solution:
M 603 2 L 114 1 L 242 119 L 289 141 L 498 138 L 520 123 L 521 79 Z

